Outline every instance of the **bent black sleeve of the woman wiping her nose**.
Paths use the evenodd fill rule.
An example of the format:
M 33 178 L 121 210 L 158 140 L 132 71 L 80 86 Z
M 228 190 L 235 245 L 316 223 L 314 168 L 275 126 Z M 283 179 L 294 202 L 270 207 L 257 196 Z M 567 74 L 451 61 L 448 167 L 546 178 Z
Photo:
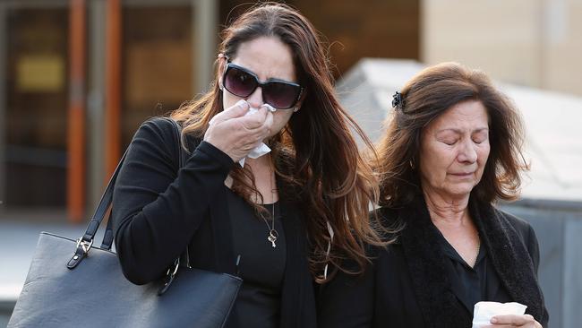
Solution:
M 193 237 L 233 160 L 201 142 L 177 171 L 174 126 L 145 122 L 133 137 L 113 195 L 116 251 L 125 277 L 158 279 Z

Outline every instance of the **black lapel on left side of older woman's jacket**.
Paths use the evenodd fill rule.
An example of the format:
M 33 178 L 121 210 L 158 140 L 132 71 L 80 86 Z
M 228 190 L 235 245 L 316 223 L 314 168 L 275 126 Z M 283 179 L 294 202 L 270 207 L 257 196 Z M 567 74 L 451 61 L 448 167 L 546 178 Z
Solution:
M 398 216 L 406 222 L 400 240 L 425 326 L 470 326 L 472 315 L 467 314 L 451 290 L 446 269 L 449 259 L 441 251 L 439 232 L 432 224 L 422 196 L 399 210 Z

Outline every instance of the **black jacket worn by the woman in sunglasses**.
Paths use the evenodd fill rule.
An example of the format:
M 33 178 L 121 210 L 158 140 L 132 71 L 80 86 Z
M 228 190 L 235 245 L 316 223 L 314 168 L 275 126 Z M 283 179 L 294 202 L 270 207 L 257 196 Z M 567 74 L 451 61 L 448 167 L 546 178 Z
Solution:
M 234 162 L 210 143 L 188 137 L 193 152 L 178 172 L 173 129 L 161 118 L 141 125 L 116 182 L 116 251 L 124 275 L 137 284 L 162 277 L 186 246 L 193 267 L 235 273 L 224 187 Z M 280 206 L 287 239 L 280 327 L 314 327 L 304 215 L 283 198 Z

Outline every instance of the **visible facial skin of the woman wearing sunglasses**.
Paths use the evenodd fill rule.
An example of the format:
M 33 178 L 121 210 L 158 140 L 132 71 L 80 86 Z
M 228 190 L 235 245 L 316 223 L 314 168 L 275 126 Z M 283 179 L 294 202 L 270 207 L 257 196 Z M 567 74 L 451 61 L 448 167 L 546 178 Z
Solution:
M 276 37 L 261 37 L 242 43 L 236 50 L 235 57 L 230 58 L 230 62 L 254 73 L 260 82 L 269 79 L 296 82 L 291 49 Z M 222 65 L 226 65 L 226 61 L 222 62 Z M 223 108 L 234 106 L 240 99 L 242 98 L 223 88 Z M 261 108 L 264 104 L 261 87 L 253 91 L 245 100 L 251 108 Z M 299 104 L 295 105 L 295 107 L 298 106 Z M 273 125 L 270 126 L 269 137 L 278 134 L 287 125 L 293 113 L 293 108 L 276 110 L 273 113 Z

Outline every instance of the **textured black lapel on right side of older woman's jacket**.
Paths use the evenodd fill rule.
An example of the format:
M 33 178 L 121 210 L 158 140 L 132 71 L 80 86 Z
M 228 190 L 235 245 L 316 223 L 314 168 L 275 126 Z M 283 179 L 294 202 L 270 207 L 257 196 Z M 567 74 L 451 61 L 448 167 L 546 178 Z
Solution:
M 482 244 L 509 296 L 527 306 L 526 312 L 542 322 L 543 297 L 526 246 L 501 211 L 490 204 L 469 201 Z

